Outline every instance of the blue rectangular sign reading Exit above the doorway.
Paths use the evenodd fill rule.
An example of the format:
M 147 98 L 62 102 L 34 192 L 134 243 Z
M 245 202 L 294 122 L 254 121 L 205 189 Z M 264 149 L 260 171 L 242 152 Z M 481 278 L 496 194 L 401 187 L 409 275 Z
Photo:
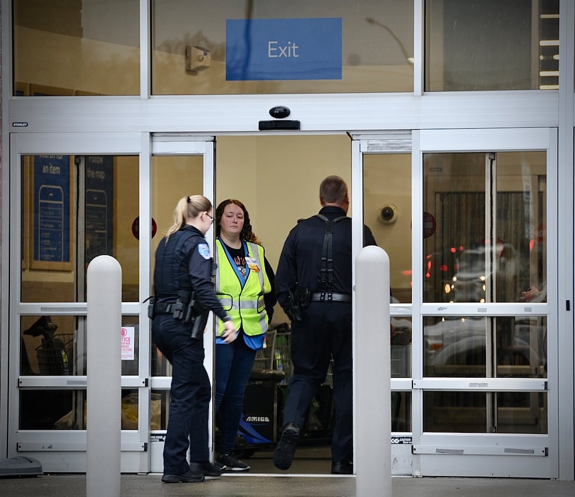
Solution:
M 342 18 L 228 19 L 225 79 L 342 79 Z

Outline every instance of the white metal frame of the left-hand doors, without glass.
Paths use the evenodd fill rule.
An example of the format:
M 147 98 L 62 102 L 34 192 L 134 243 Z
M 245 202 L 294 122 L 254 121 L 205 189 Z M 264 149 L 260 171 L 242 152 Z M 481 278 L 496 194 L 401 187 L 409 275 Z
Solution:
M 197 136 L 152 136 L 150 133 L 13 133 L 10 135 L 10 260 L 21 260 L 21 157 L 25 155 L 139 155 L 139 216 L 151 217 L 151 155 L 202 155 L 204 156 L 204 191 L 206 197 L 214 196 L 214 142 L 213 137 Z M 6 179 L 7 180 L 7 179 Z M 5 199 L 3 199 L 5 200 Z M 6 211 L 5 211 L 6 212 Z M 208 237 L 209 238 L 209 237 Z M 147 317 L 147 305 L 144 300 L 151 289 L 151 240 L 141 237 L 139 244 L 140 287 L 139 302 L 122 303 L 122 315 L 139 316 L 140 344 L 150 344 L 150 321 Z M 9 291 L 9 327 L 10 343 L 14 344 L 7 357 L 6 368 L 9 375 L 2 376 L 2 388 L 6 388 L 7 448 L 8 456 L 26 453 L 43 461 L 44 471 L 85 471 L 86 433 L 83 430 L 18 430 L 18 388 L 57 388 L 83 390 L 87 376 L 20 376 L 20 315 L 58 314 L 86 315 L 85 302 L 20 302 L 21 267 L 11 264 L 10 284 L 3 281 L 3 288 Z M 4 333 L 4 330 L 3 330 Z M 6 332 L 7 333 L 7 332 Z M 7 342 L 7 341 L 6 341 Z M 210 344 L 206 340 L 206 344 Z M 209 346 L 207 347 L 209 348 Z M 150 372 L 150 350 L 147 346 L 139 348 L 139 375 L 122 379 L 122 388 L 139 389 L 139 426 L 140 430 L 122 432 L 121 471 L 150 471 L 149 430 L 150 392 L 153 387 L 162 387 L 166 379 L 152 379 Z M 208 364 L 209 363 L 209 364 Z M 208 350 L 206 365 L 211 376 L 212 354 Z M 7 377 L 18 378 L 8 382 Z M 169 382 L 167 382 L 169 388 Z M 160 454 L 161 455 L 161 454 Z M 160 470 L 161 471 L 161 470 Z

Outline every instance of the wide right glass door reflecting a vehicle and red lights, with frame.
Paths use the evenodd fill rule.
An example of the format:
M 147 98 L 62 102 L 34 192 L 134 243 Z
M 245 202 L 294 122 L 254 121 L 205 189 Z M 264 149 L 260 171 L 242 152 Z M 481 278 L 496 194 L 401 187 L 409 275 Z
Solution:
M 530 467 L 526 476 L 551 474 L 549 457 L 496 457 L 501 446 L 513 457 L 545 457 L 557 443 L 547 386 L 553 141 L 548 130 L 526 133 L 421 133 L 421 432 L 413 450 L 426 474 L 439 476 L 431 468 L 444 468 L 443 453 L 467 454 L 461 466 L 455 458 L 453 470 L 440 469 L 444 476 L 503 476 L 507 464 Z

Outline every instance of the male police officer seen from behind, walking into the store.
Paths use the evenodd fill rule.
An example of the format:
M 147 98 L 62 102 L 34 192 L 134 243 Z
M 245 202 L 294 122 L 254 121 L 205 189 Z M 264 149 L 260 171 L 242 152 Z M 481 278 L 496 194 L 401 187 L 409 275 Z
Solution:
M 283 429 L 274 453 L 279 469 L 292 465 L 304 415 L 325 381 L 333 357 L 335 429 L 333 474 L 353 472 L 351 218 L 347 185 L 339 176 L 320 184 L 319 214 L 287 236 L 275 275 L 279 304 L 292 319 L 293 375 L 287 386 Z M 365 227 L 365 245 L 375 245 Z

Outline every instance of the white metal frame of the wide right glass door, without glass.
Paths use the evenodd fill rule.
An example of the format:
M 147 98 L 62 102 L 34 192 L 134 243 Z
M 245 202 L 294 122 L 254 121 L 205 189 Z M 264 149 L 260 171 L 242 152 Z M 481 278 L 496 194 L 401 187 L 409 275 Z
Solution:
M 546 151 L 549 191 L 557 188 L 557 130 L 480 129 L 480 130 L 421 130 L 413 140 L 413 212 L 423 211 L 423 154 L 425 152 L 500 152 Z M 547 198 L 548 246 L 557 246 L 556 199 Z M 413 219 L 413 233 L 422 233 L 422 221 Z M 553 238 L 552 238 L 553 237 Z M 413 240 L 413 282 L 423 281 L 423 237 Z M 539 304 L 532 312 L 547 316 L 547 326 L 557 330 L 557 253 L 547 253 L 548 303 Z M 526 306 L 505 304 L 442 304 L 423 303 L 413 286 L 413 330 L 421 330 L 424 315 L 522 315 Z M 418 292 L 419 293 L 419 292 Z M 440 309 L 438 309 L 440 307 Z M 479 309 L 481 307 L 481 310 Z M 540 308 L 539 308 L 540 307 Z M 419 308 L 419 309 L 418 309 Z M 415 332 L 414 332 L 415 334 Z M 558 477 L 558 392 L 557 334 L 549 333 L 549 368 L 547 379 L 493 379 L 480 381 L 455 378 L 424 378 L 421 331 L 414 337 L 413 357 L 413 474 L 417 476 L 516 476 Z M 554 364 L 551 364 L 551 363 Z M 425 433 L 423 431 L 423 392 L 425 390 L 472 390 L 477 385 L 488 391 L 546 391 L 549 420 L 545 435 L 517 434 L 456 434 Z M 489 464 L 486 458 L 489 456 Z M 535 457 L 528 457 L 535 456 Z M 543 456 L 543 457 L 537 457 Z

